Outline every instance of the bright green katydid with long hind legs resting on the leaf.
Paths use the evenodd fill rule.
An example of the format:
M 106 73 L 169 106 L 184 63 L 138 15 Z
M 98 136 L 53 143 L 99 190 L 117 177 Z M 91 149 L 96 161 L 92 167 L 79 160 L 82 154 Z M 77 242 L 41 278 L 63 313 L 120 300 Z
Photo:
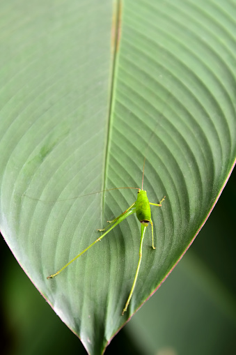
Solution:
M 144 159 L 144 163 L 143 163 L 143 175 L 144 175 L 144 166 L 145 166 L 145 159 Z M 125 212 L 121 213 L 120 216 L 118 216 L 117 218 L 115 218 L 111 221 L 108 221 L 109 225 L 107 225 L 107 227 L 105 227 L 104 229 L 97 229 L 98 232 L 104 232 L 104 231 L 106 231 L 106 232 L 104 232 L 101 236 L 99 236 L 90 246 L 88 246 L 86 249 L 84 249 L 82 252 L 80 252 L 76 257 L 74 257 L 72 260 L 70 260 L 70 262 L 68 262 L 68 264 L 65 264 L 65 266 L 63 266 L 63 268 L 61 268 L 56 273 L 49 275 L 47 277 L 47 279 L 51 279 L 51 278 L 54 278 L 59 273 L 61 273 L 61 271 L 63 271 L 67 266 L 69 266 L 72 262 L 74 262 L 75 259 L 77 259 L 81 255 L 83 255 L 84 252 L 86 252 L 88 249 L 90 249 L 92 246 L 94 246 L 95 243 L 97 243 L 97 241 L 101 241 L 102 238 L 104 238 L 104 236 L 106 236 L 111 231 L 111 229 L 116 227 L 116 225 L 118 225 L 120 222 L 125 220 L 125 218 L 127 218 L 128 216 L 132 215 L 133 213 L 136 213 L 136 216 L 137 216 L 139 222 L 141 222 L 141 241 L 140 241 L 140 246 L 139 246 L 139 262 L 138 262 L 138 266 L 136 268 L 136 273 L 134 275 L 134 282 L 133 282 L 131 291 L 129 292 L 128 299 L 125 303 L 125 308 L 123 309 L 122 315 L 124 315 L 124 313 L 127 311 L 129 302 L 132 298 L 132 294 L 134 293 L 134 287 L 136 285 L 136 280 L 139 275 L 139 269 L 140 269 L 141 259 L 142 259 L 143 238 L 144 238 L 144 234 L 145 234 L 145 229 L 146 229 L 146 227 L 148 227 L 149 222 L 152 227 L 152 249 L 155 249 L 154 236 L 153 236 L 153 223 L 152 223 L 152 218 L 151 218 L 150 204 L 153 206 L 161 207 L 162 202 L 165 199 L 165 197 L 163 197 L 163 199 L 159 202 L 159 204 L 149 202 L 147 192 L 145 190 L 143 190 L 143 179 L 142 179 L 142 188 L 136 188 L 136 189 L 138 190 L 138 196 L 137 196 L 136 202 L 134 202 L 131 206 L 129 206 L 129 208 L 127 210 L 125 210 Z M 113 189 L 111 189 L 111 190 L 113 190 Z

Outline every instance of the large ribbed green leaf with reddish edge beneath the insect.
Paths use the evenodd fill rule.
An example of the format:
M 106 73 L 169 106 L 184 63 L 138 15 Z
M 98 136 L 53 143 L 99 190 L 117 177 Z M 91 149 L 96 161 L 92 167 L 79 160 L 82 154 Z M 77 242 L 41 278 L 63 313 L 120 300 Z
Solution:
M 187 250 L 233 167 L 235 3 L 0 4 L 1 232 L 63 322 L 101 354 Z M 157 249 L 149 230 L 122 317 L 139 258 L 134 216 L 46 277 L 136 192 L 73 197 L 141 187 L 144 156 L 150 202 L 166 201 L 152 209 Z

